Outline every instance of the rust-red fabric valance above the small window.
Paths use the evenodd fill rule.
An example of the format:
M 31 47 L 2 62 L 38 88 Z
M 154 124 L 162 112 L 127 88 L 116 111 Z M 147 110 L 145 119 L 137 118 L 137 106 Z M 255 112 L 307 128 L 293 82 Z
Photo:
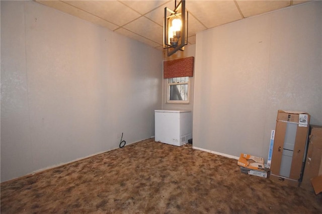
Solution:
M 193 77 L 194 57 L 163 62 L 163 78 Z

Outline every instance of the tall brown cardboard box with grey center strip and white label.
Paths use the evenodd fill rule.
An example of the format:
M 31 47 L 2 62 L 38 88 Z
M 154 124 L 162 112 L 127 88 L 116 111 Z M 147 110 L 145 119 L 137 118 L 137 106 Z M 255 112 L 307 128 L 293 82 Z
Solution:
M 278 110 L 273 146 L 271 177 L 277 180 L 301 179 L 310 115 Z

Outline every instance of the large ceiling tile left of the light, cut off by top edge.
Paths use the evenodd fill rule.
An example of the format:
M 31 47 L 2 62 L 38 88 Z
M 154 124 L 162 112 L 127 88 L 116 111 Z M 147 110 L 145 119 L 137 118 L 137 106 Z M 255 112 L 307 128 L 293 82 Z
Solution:
M 64 1 L 106 21 L 123 26 L 141 15 L 119 1 Z

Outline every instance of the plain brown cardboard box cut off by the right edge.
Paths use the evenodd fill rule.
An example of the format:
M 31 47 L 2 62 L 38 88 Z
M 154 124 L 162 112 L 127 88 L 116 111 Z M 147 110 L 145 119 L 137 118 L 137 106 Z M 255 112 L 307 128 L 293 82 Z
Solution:
M 308 149 L 301 186 L 312 188 L 311 178 L 322 175 L 322 126 L 310 125 Z

